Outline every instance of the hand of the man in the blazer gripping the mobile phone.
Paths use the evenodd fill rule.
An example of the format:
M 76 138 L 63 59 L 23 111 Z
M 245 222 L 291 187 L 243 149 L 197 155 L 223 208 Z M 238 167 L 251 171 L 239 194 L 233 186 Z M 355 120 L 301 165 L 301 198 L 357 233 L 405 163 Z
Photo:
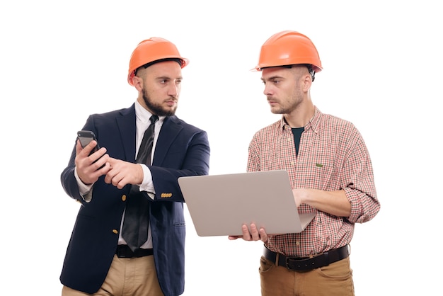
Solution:
M 77 140 L 76 170 L 80 180 L 85 185 L 95 183 L 100 176 L 105 175 L 110 170 L 109 155 L 106 154 L 105 147 L 101 147 L 98 151 L 89 155 L 96 145 L 96 141 L 91 141 L 86 147 L 81 148 L 80 141 Z

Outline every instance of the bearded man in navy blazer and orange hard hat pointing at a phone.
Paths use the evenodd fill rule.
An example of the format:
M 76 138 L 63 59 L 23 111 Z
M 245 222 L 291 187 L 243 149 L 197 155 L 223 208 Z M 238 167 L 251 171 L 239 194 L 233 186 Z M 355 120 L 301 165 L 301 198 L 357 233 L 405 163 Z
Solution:
M 61 176 L 66 193 L 81 203 L 60 275 L 62 295 L 183 294 L 185 200 L 177 179 L 209 173 L 207 133 L 174 115 L 187 64 L 168 40 L 140 42 L 128 74 L 137 101 L 86 120 L 83 130 L 97 141 L 84 148 L 76 141 Z M 152 165 L 136 164 L 151 115 L 159 116 Z M 90 154 L 96 144 L 101 148 Z M 120 234 L 133 185 L 150 213 L 148 239 L 135 251 Z

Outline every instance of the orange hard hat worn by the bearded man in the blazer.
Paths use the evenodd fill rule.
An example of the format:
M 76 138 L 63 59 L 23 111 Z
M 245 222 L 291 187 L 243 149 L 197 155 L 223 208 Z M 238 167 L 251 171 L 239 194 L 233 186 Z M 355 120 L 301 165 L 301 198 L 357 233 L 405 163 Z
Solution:
M 158 61 L 159 59 L 180 59 L 181 67 L 184 68 L 189 64 L 189 59 L 181 57 L 178 53 L 176 45 L 166 39 L 159 37 L 151 37 L 135 47 L 130 59 L 130 69 L 127 74 L 127 82 L 132 84 L 132 78 L 135 71 L 145 64 Z

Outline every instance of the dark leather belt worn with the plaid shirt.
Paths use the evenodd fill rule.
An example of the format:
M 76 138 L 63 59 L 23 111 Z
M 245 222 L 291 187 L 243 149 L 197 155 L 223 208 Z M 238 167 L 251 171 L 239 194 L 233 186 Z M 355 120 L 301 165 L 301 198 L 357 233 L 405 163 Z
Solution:
M 265 247 L 263 256 L 275 263 L 277 266 L 284 266 L 291 271 L 310 271 L 315 268 L 328 266 L 330 263 L 340 261 L 349 256 L 349 246 L 345 245 L 338 249 L 332 249 L 312 258 L 287 257 L 279 253 L 270 251 Z

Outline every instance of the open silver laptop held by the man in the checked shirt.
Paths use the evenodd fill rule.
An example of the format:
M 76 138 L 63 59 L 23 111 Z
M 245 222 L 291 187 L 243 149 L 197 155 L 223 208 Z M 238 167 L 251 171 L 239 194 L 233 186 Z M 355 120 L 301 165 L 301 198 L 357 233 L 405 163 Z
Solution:
M 302 232 L 315 212 L 299 214 L 285 170 L 178 178 L 200 237 L 242 235 L 255 223 L 267 234 Z

